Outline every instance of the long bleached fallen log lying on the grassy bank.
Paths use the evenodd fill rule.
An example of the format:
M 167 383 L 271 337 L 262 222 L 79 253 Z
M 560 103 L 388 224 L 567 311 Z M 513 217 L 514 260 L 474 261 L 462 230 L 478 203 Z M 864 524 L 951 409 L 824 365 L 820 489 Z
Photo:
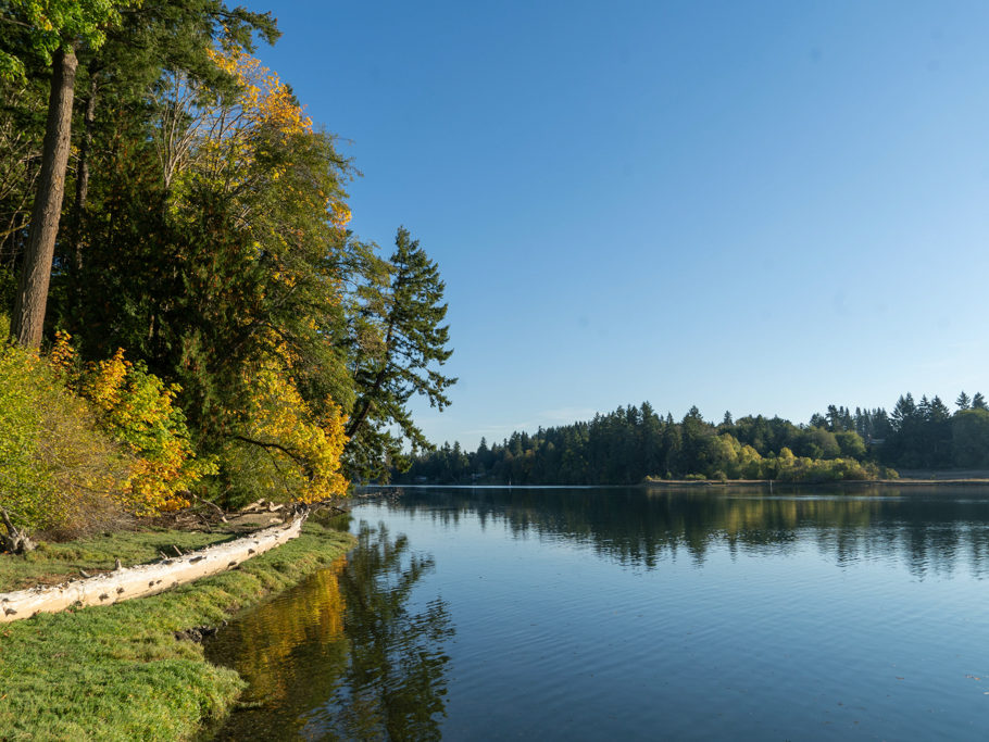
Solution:
M 218 575 L 295 539 L 301 532 L 306 515 L 302 513 L 286 525 L 272 526 L 180 557 L 166 557 L 154 564 L 124 567 L 52 587 L 0 593 L 0 624 L 30 618 L 37 613 L 58 613 L 72 606 L 112 605 L 133 598 L 154 595 L 201 577 Z

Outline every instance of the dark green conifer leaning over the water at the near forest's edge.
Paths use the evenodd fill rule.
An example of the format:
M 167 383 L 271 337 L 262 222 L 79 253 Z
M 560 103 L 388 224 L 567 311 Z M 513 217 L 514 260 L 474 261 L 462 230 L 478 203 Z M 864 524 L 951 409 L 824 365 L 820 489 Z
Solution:
M 360 337 L 353 342 L 352 368 L 358 398 L 346 450 L 351 476 L 387 477 L 391 464 L 408 468 L 405 440 L 413 453 L 430 450 L 406 405 L 420 394 L 442 411 L 450 404 L 446 390 L 456 382 L 439 368 L 453 353 L 447 348 L 450 328 L 441 324 L 447 304 L 441 303 L 446 286 L 439 267 L 404 227 L 395 246 L 388 278 L 377 286 L 366 282 L 356 300 L 354 331 Z M 389 426 L 397 426 L 398 435 Z

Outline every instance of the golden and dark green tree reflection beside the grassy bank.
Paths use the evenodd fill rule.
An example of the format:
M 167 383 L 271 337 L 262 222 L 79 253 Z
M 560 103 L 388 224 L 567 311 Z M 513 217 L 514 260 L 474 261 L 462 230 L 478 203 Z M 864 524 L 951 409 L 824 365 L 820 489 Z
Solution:
M 215 739 L 434 740 L 446 714 L 447 605 L 413 606 L 431 557 L 362 523 L 359 543 L 206 647 L 250 683 Z

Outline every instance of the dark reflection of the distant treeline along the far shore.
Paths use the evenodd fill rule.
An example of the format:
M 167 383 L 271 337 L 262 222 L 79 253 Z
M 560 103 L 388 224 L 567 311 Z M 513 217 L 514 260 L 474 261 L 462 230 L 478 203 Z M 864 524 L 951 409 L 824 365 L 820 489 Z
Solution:
M 405 490 L 391 507 L 455 526 L 472 514 L 515 537 L 538 533 L 591 545 L 623 564 L 654 568 L 686 552 L 699 564 L 731 554 L 787 553 L 811 541 L 839 565 L 897 559 L 917 577 L 950 575 L 964 559 L 989 576 L 989 490 L 859 488 L 775 494 L 753 489 Z

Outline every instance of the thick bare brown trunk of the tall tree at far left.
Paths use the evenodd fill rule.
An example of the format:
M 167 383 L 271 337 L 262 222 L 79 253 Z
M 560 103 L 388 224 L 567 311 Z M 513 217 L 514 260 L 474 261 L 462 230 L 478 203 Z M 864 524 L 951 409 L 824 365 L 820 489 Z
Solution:
M 21 266 L 21 280 L 11 317 L 11 339 L 25 348 L 41 347 L 48 284 L 65 191 L 77 65 L 78 60 L 71 48 L 52 54 L 51 96 L 41 150 L 41 174 L 32 210 L 30 238 Z

